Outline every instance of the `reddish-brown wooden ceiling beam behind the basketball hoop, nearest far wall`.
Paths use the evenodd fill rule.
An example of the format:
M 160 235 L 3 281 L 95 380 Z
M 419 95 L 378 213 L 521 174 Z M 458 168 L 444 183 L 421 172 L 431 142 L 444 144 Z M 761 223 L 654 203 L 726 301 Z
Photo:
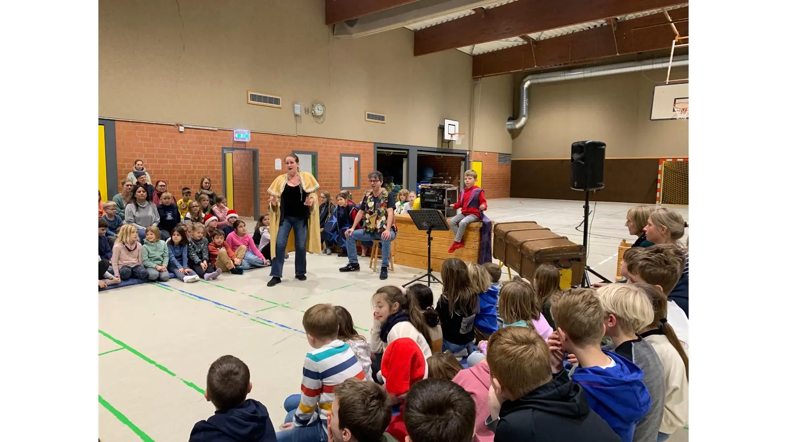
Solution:
M 537 71 L 560 65 L 592 63 L 618 55 L 670 49 L 675 39 L 671 24 L 681 35 L 689 35 L 689 8 L 673 9 L 670 16 L 671 22 L 663 14 L 652 14 L 619 21 L 614 31 L 609 25 L 600 26 L 540 40 L 536 45 L 482 53 L 473 57 L 473 77 Z

